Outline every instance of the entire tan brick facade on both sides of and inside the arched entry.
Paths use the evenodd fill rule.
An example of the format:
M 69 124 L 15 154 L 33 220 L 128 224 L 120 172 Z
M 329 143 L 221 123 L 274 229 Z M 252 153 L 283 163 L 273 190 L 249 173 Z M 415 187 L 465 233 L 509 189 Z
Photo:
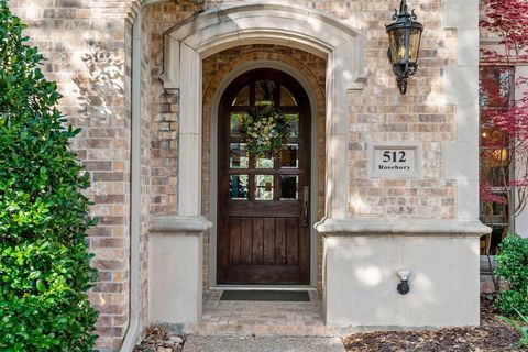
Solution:
M 43 69 L 46 77 L 57 81 L 64 95 L 62 111 L 73 124 L 85 129 L 74 147 L 91 172 L 92 187 L 88 195 L 96 201 L 94 216 L 101 218 L 90 232 L 90 248 L 96 253 L 94 264 L 100 271 L 99 283 L 90 298 L 101 312 L 98 348 L 102 350 L 118 350 L 129 323 L 131 23 L 141 2 L 10 1 L 13 11 L 29 24 L 25 34 L 48 58 Z M 144 89 L 140 273 L 143 322 L 147 321 L 148 217 L 177 213 L 179 96 L 177 90 L 163 89 L 158 78 L 163 70 L 163 33 L 202 8 L 226 2 L 234 1 L 206 1 L 204 7 L 188 1 L 152 6 L 142 24 L 147 33 L 142 43 L 141 76 Z M 443 1 L 415 0 L 410 3 L 426 24 L 426 32 L 420 68 L 409 81 L 407 96 L 399 96 L 386 58 L 388 44 L 384 24 L 391 22 L 391 11 L 399 1 L 300 0 L 296 4 L 333 13 L 365 34 L 366 86 L 348 96 L 349 215 L 453 218 L 455 186 L 442 175 L 443 142 L 454 139 L 453 108 L 443 103 L 442 75 L 443 67 L 454 63 L 455 35 L 442 29 Z M 206 59 L 204 81 L 219 80 L 220 72 L 226 74 L 234 68 L 237 59 L 249 59 L 242 57 L 251 51 L 285 62 L 301 62 L 317 77 L 317 85 L 324 86 L 322 63 L 316 64 L 317 59 L 306 53 L 279 47 L 244 47 L 237 53 L 219 53 Z M 228 62 L 230 65 L 223 65 Z M 321 91 L 323 94 L 324 89 Z M 321 95 L 319 99 L 323 101 L 324 97 Z M 209 125 L 207 109 L 205 112 L 204 211 L 207 215 Z M 324 112 L 319 111 L 319 116 Z M 323 127 L 324 121 L 320 119 L 319 131 L 323 131 Z M 319 141 L 319 169 L 324 165 L 323 135 L 320 134 Z M 424 179 L 366 178 L 366 141 L 409 140 L 424 143 Z M 323 197 L 322 176 L 323 172 L 319 180 L 320 198 Z M 362 200 L 362 207 L 354 202 L 356 198 Z

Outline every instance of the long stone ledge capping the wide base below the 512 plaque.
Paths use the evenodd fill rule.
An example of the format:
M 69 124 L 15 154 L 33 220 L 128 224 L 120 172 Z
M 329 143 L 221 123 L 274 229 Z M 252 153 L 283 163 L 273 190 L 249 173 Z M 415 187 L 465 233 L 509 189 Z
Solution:
M 315 224 L 326 235 L 420 235 L 481 237 L 492 229 L 479 220 L 443 219 L 323 219 Z

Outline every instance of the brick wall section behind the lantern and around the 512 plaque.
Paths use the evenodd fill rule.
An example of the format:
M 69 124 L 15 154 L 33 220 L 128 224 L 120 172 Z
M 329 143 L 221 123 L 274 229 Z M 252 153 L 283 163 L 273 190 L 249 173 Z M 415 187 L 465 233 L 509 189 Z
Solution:
M 371 9 L 388 3 L 370 1 Z M 443 102 L 443 67 L 454 61 L 454 35 L 442 28 L 442 1 L 414 1 L 426 30 L 420 67 L 400 96 L 387 58 L 383 23 L 387 11 L 358 20 L 366 33 L 369 79 L 363 91 L 349 92 L 349 213 L 366 217 L 444 218 L 455 216 L 455 183 L 443 179 L 443 142 L 454 139 L 454 110 Z M 352 14 L 353 16 L 353 14 Z M 376 30 L 374 30 L 376 29 Z M 367 179 L 367 141 L 422 143 L 421 179 Z

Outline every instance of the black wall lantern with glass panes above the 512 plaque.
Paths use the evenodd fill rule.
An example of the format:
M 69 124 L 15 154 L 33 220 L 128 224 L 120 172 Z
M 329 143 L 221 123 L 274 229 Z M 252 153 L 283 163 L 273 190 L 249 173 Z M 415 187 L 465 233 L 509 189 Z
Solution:
M 393 64 L 399 92 L 407 92 L 407 79 L 418 69 L 418 51 L 420 48 L 424 25 L 417 22 L 415 10 L 407 10 L 407 0 L 402 0 L 399 13 L 395 9 L 394 23 L 385 25 L 388 34 L 388 59 Z

